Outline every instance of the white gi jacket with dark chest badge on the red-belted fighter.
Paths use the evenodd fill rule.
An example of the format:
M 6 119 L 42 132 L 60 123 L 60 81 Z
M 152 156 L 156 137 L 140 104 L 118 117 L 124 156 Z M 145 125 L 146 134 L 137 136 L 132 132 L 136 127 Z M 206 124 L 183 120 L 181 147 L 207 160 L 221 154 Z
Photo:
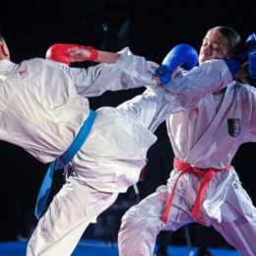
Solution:
M 218 112 L 213 96 L 208 95 L 188 110 L 170 115 L 166 124 L 175 157 L 192 166 L 224 168 L 242 143 L 256 141 L 255 99 L 254 88 L 232 83 L 226 88 Z M 236 137 L 228 133 L 228 119 L 237 119 L 236 129 L 239 134 Z M 189 184 L 190 176 L 184 175 L 181 179 Z M 222 221 L 220 206 L 224 202 L 229 182 L 228 171 L 218 173 L 205 193 L 202 211 L 219 222 Z M 197 189 L 196 185 L 188 186 L 186 194 L 189 195 L 189 201 L 193 201 Z M 223 215 L 232 214 L 224 212 Z

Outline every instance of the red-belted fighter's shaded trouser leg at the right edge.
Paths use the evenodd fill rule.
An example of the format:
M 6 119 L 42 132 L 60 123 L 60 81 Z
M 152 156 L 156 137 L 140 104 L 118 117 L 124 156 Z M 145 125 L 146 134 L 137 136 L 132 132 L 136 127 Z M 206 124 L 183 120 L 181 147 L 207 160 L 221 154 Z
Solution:
M 256 255 L 256 208 L 236 173 L 228 185 L 221 211 L 222 223 L 215 222 L 214 227 L 242 255 Z

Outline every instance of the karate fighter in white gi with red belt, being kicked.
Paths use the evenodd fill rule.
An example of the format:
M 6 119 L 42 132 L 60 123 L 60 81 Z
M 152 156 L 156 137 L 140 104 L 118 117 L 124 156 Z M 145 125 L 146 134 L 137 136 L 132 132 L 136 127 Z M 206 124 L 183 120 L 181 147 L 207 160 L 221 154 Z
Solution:
M 202 72 L 209 60 L 232 57 L 240 40 L 230 28 L 208 31 L 199 54 Z M 200 83 L 204 76 L 194 79 Z M 177 81 L 188 88 L 191 83 L 182 75 Z M 201 86 L 188 90 L 181 98 L 188 108 L 167 118 L 174 168 L 166 185 L 124 215 L 120 256 L 153 255 L 161 229 L 173 231 L 193 222 L 213 225 L 241 255 L 256 255 L 256 209 L 230 165 L 242 143 L 256 141 L 256 90 L 232 82 L 212 92 L 205 95 Z

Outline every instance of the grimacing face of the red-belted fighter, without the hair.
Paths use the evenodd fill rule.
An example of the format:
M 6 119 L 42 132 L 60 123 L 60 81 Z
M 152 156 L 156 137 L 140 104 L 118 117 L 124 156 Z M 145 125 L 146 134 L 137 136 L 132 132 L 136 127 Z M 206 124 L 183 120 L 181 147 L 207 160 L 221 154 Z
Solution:
M 199 65 L 210 59 L 228 58 L 231 52 L 231 46 L 224 35 L 212 30 L 207 32 L 199 53 Z

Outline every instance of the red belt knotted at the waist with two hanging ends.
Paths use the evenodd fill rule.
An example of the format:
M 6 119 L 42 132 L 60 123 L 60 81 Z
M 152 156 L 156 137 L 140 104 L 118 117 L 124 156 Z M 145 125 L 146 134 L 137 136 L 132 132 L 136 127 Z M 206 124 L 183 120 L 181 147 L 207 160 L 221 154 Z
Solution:
M 168 215 L 169 215 L 169 211 L 170 211 L 170 207 L 171 207 L 171 203 L 173 200 L 173 196 L 174 196 L 174 191 L 176 189 L 176 185 L 177 182 L 179 180 L 179 178 L 185 174 L 185 173 L 191 173 L 193 175 L 195 175 L 198 178 L 202 179 L 200 188 L 198 190 L 197 196 L 196 196 L 196 200 L 194 202 L 193 205 L 193 209 L 192 209 L 192 217 L 197 220 L 198 222 L 202 223 L 202 221 L 199 220 L 198 218 L 198 212 L 199 212 L 199 208 L 205 193 L 205 190 L 207 189 L 208 185 L 210 184 L 211 180 L 214 178 L 214 176 L 216 175 L 217 172 L 219 171 L 224 171 L 226 169 L 228 169 L 231 165 L 227 164 L 223 169 L 217 169 L 217 168 L 197 168 L 197 167 L 193 167 L 191 166 L 188 162 L 184 162 L 181 160 L 177 160 L 174 158 L 173 160 L 173 166 L 175 168 L 177 168 L 178 170 L 180 170 L 180 173 L 174 183 L 174 186 L 172 188 L 170 197 L 167 201 L 167 204 L 165 206 L 163 215 L 162 215 L 162 222 L 164 224 L 167 223 L 168 221 Z

